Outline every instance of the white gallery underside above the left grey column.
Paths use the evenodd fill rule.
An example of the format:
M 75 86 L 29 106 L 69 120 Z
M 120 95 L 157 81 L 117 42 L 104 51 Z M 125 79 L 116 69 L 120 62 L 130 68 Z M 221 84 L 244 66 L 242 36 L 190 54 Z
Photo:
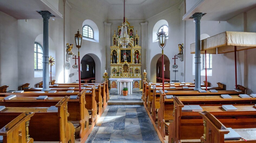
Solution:
M 0 9 L 16 19 L 42 19 L 36 11 L 49 11 L 55 18 L 62 18 L 56 2 L 58 5 L 58 0 L 0 0 Z

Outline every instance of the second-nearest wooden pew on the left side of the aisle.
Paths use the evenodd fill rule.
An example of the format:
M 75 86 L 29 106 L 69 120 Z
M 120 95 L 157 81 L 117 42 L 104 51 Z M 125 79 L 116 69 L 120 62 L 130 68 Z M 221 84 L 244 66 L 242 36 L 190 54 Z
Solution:
M 29 121 L 29 134 L 34 141 L 75 142 L 75 128 L 68 122 L 67 102 L 70 97 L 65 96 L 55 107 L 58 112 L 47 112 L 48 107 L 6 107 L 1 114 L 10 118 L 17 117 L 22 112 L 34 112 Z

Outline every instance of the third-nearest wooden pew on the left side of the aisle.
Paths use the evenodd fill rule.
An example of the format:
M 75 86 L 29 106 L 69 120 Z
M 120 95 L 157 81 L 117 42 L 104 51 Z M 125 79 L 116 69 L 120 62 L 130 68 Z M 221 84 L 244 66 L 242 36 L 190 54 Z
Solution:
M 80 141 L 85 141 L 90 134 L 91 130 L 95 126 L 95 123 L 89 127 L 89 113 L 85 108 L 86 90 L 81 91 L 78 94 L 78 99 L 69 99 L 68 100 L 68 121 L 74 124 L 75 128 L 80 128 L 79 138 Z M 0 106 L 6 107 L 45 107 L 45 106 L 54 106 L 57 104 L 63 97 L 48 97 L 48 99 L 37 100 L 37 97 L 15 97 L 11 100 L 3 100 L 4 97 L 0 97 Z

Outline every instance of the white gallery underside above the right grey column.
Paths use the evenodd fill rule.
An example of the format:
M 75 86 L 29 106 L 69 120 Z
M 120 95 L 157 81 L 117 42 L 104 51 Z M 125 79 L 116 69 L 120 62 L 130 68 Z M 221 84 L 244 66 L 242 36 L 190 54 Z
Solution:
M 207 13 L 201 20 L 227 21 L 234 16 L 249 11 L 256 7 L 256 0 L 199 0 L 183 16 L 183 20 L 189 19 L 194 13 Z

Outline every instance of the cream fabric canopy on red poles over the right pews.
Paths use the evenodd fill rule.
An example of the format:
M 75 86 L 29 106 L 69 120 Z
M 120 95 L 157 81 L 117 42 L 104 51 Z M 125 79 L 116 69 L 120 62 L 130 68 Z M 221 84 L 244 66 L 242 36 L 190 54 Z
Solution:
M 234 52 L 234 46 L 237 51 L 256 48 L 256 33 L 252 32 L 233 32 L 225 31 L 212 37 L 200 41 L 201 53 L 216 54 Z M 217 50 L 216 50 L 217 49 Z M 191 53 L 195 53 L 195 43 L 190 45 Z

